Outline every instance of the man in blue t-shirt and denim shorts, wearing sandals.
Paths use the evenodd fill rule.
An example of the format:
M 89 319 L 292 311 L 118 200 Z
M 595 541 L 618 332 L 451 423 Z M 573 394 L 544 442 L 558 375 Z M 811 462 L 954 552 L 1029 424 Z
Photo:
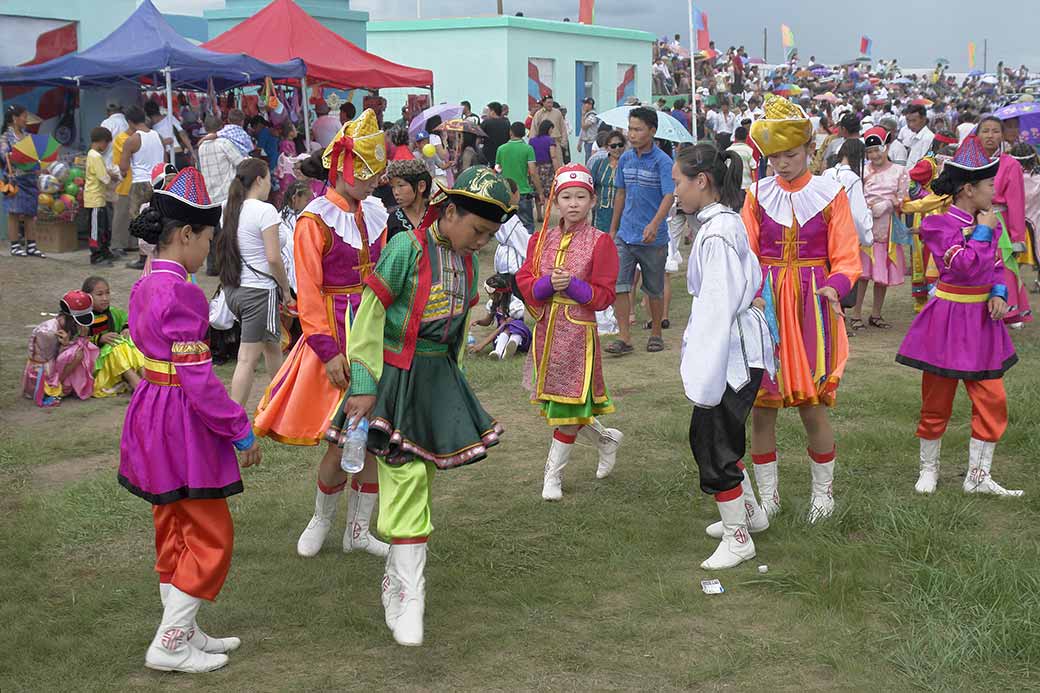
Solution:
M 628 113 L 628 143 L 631 148 L 621 155 L 615 185 L 614 220 L 610 235 L 618 248 L 618 298 L 614 312 L 618 316 L 619 339 L 606 346 L 608 354 L 630 354 L 632 282 L 635 267 L 643 274 L 643 292 L 650 303 L 651 336 L 648 352 L 660 352 L 664 313 L 665 261 L 668 259 L 668 212 L 672 208 L 675 183 L 672 159 L 653 144 L 657 133 L 657 111 L 641 106 Z

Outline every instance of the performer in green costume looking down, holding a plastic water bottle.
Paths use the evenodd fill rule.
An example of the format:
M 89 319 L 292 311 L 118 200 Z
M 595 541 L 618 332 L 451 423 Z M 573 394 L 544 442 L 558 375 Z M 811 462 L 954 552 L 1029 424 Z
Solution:
M 401 645 L 422 644 L 434 471 L 483 460 L 502 433 L 459 362 L 478 301 L 474 256 L 512 211 L 504 178 L 464 171 L 431 198 L 415 232 L 384 249 L 350 326 L 349 396 L 332 428 L 369 422 L 379 531 L 390 541 L 383 608 Z

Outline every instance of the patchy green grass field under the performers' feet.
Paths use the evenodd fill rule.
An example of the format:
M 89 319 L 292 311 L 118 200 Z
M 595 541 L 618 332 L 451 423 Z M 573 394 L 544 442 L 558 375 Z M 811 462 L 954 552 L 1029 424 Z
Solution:
M 467 362 L 506 432 L 484 462 L 437 477 L 423 647 L 396 646 L 383 623 L 381 562 L 338 550 L 344 513 L 322 554 L 296 556 L 319 451 L 265 442 L 231 499 L 231 576 L 200 615 L 241 649 L 211 674 L 147 670 L 161 609 L 150 507 L 115 482 L 127 399 L 37 410 L 19 396 L 29 326 L 85 274 L 82 253 L 0 258 L 0 691 L 1040 690 L 1040 328 L 1014 335 L 1021 362 L 994 463 L 1023 498 L 962 495 L 963 392 L 939 492 L 913 493 L 919 376 L 893 361 L 907 287 L 886 310 L 894 329 L 853 340 L 833 411 L 835 516 L 804 521 L 805 439 L 784 412 L 784 512 L 757 536 L 756 561 L 709 575 L 699 564 L 716 510 L 698 490 L 677 379 L 681 276 L 668 350 L 606 361 L 607 422 L 626 434 L 614 476 L 596 481 L 595 452 L 580 447 L 562 503 L 540 497 L 549 431 L 522 361 Z M 125 306 L 135 273 L 106 274 Z M 707 596 L 699 581 L 714 576 L 726 593 Z

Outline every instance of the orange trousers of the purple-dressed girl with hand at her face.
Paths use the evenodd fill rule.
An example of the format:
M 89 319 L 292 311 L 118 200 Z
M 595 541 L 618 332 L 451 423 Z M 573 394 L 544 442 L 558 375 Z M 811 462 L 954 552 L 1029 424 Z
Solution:
M 959 382 L 930 373 L 921 375 L 918 438 L 938 440 L 946 432 Z M 998 441 L 1008 429 L 1008 394 L 1004 390 L 1004 380 L 963 382 L 971 400 L 971 437 L 986 442 Z

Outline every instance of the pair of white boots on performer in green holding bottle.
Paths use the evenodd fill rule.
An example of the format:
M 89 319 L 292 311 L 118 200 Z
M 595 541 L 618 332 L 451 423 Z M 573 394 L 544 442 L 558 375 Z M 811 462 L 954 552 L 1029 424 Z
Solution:
M 426 601 L 426 542 L 393 544 L 383 576 L 383 610 L 387 627 L 398 645 L 422 644 Z

